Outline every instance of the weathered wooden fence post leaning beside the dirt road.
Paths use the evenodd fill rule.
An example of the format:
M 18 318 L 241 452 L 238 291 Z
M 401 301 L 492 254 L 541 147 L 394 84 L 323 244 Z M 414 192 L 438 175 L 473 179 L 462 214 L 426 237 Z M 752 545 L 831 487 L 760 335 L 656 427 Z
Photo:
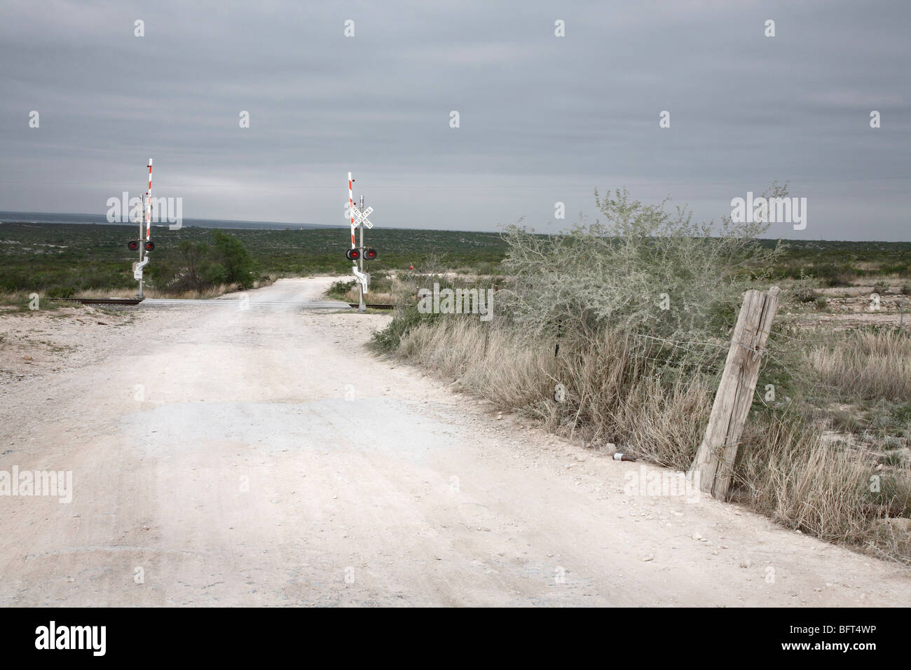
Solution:
M 700 489 L 718 500 L 727 500 L 731 488 L 734 459 L 756 390 L 765 342 L 778 310 L 779 293 L 781 289 L 773 286 L 767 294 L 747 291 L 744 295 L 709 426 L 690 467 Z

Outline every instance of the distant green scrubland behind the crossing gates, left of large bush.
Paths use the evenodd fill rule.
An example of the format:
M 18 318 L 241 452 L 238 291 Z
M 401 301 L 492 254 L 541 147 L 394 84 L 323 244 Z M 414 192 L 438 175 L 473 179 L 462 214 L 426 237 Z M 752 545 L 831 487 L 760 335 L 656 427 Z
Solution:
M 131 226 L 84 223 L 0 223 L 0 293 L 32 292 L 67 297 L 83 290 L 123 289 L 136 285 L 131 264 L 138 253 L 127 243 L 138 237 Z M 295 276 L 312 273 L 350 273 L 344 257 L 350 242 L 347 229 L 245 230 L 230 232 L 206 228 L 166 227 L 152 229 L 156 248 L 146 276 L 150 287 L 166 290 L 181 284 L 215 281 L 225 267 L 216 257 L 223 237 L 241 244 L 250 263 L 240 263 L 242 272 L 254 278 L 263 275 Z M 217 242 L 218 241 L 218 242 Z M 496 273 L 506 244 L 495 232 L 410 231 L 375 228 L 366 242 L 378 252 L 371 271 L 420 266 L 422 259 L 445 253 L 455 269 Z M 190 246 L 190 245 L 197 246 Z M 202 247 L 210 247 L 203 253 Z M 189 264 L 196 268 L 187 273 Z M 230 271 L 228 272 L 229 274 Z M 234 275 L 231 275 L 234 276 Z

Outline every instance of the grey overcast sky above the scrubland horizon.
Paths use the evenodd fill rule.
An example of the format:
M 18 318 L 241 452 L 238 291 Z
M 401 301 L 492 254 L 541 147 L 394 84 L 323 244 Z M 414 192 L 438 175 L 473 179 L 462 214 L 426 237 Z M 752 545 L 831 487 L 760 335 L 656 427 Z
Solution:
M 5 0 L 0 210 L 103 214 L 151 157 L 185 218 L 343 223 L 351 170 L 378 226 L 555 232 L 594 217 L 595 187 L 718 220 L 780 180 L 807 225 L 775 237 L 908 241 L 909 19 L 831 0 Z

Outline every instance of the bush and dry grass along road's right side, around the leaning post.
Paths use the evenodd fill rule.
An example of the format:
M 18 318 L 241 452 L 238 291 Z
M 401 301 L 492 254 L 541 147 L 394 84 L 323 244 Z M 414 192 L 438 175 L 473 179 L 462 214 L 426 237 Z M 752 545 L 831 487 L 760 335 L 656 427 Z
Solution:
M 783 304 L 732 499 L 788 528 L 911 564 L 908 330 L 820 322 L 828 277 L 792 273 L 793 251 L 758 240 L 762 224 L 722 220 L 710 229 L 685 208 L 627 191 L 596 200 L 603 218 L 568 234 L 507 229 L 499 275 L 448 273 L 443 263 L 397 276 L 398 306 L 374 346 L 590 448 L 613 445 L 685 470 L 742 292 L 778 283 Z M 897 299 L 895 273 L 886 276 L 875 288 Z M 434 283 L 496 284 L 493 319 L 422 314 L 415 295 Z M 857 296 L 860 309 L 869 294 Z

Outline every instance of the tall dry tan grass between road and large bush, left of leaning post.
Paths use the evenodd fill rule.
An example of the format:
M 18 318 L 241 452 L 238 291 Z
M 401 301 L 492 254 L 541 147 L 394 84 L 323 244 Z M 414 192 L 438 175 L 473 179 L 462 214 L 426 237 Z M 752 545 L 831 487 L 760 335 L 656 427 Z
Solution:
M 711 378 L 655 366 L 623 335 L 604 333 L 581 349 L 570 342 L 554 356 L 517 329 L 467 317 L 416 326 L 396 353 L 550 429 L 688 467 L 711 412 Z

